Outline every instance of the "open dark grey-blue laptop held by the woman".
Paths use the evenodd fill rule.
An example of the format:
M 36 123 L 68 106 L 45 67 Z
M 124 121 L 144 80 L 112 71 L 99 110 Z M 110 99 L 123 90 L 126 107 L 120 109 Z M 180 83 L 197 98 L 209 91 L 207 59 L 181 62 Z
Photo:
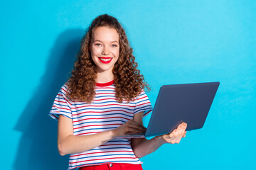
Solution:
M 175 130 L 187 123 L 186 130 L 203 128 L 220 82 L 161 86 L 145 133 L 114 138 L 151 137 Z

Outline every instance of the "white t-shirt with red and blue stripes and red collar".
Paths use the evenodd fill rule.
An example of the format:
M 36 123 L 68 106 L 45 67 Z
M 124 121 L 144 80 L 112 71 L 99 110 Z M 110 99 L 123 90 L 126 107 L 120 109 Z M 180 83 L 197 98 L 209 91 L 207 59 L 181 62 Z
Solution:
M 134 101 L 118 103 L 114 87 L 113 83 L 96 84 L 95 98 L 92 103 L 85 103 L 71 101 L 66 95 L 68 84 L 64 84 L 55 98 L 50 116 L 55 120 L 58 115 L 71 118 L 74 135 L 92 135 L 117 128 L 136 113 L 144 112 L 144 116 L 151 113 L 151 103 L 144 91 Z M 110 163 L 142 164 L 132 151 L 131 141 L 119 138 L 82 153 L 70 154 L 68 169 Z

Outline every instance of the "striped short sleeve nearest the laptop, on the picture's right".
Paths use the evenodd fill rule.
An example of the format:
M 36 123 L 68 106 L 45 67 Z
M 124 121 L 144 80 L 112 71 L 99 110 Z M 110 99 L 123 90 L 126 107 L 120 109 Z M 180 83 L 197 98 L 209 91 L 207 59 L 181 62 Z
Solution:
M 146 96 L 146 93 L 144 90 L 142 90 L 141 94 L 136 98 L 135 100 L 135 108 L 134 108 L 134 114 L 139 112 L 144 112 L 143 117 L 151 113 L 153 110 L 151 103 L 149 101 L 148 96 Z

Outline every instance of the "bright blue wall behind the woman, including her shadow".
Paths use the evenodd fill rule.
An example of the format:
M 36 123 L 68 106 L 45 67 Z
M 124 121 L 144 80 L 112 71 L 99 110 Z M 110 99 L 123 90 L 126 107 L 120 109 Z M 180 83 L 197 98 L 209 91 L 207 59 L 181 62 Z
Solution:
M 102 13 L 126 29 L 153 105 L 162 84 L 220 81 L 203 129 L 144 169 L 256 169 L 256 1 L 244 0 L 1 1 L 1 169 L 68 167 L 48 112 Z

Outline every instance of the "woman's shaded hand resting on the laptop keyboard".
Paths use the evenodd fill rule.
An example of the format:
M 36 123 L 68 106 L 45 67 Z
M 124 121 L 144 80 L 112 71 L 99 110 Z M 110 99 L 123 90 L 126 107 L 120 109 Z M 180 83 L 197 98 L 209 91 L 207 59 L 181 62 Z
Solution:
M 134 133 L 142 133 L 146 132 L 146 128 L 140 124 L 137 123 L 135 120 L 130 119 L 123 125 L 120 125 L 118 128 L 115 128 L 113 130 L 114 136 L 124 136 L 124 135 L 132 135 Z

